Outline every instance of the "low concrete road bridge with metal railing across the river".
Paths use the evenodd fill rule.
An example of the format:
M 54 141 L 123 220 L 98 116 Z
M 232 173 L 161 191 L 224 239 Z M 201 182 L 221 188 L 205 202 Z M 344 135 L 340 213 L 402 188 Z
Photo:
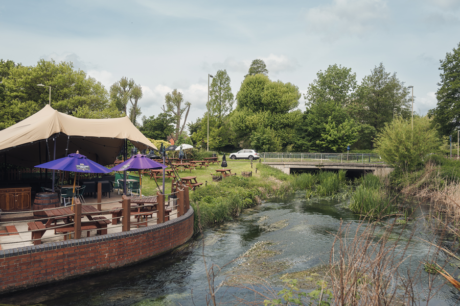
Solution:
M 376 154 L 271 153 L 260 154 L 261 162 L 290 174 L 291 170 L 346 169 L 385 175 L 393 170 Z

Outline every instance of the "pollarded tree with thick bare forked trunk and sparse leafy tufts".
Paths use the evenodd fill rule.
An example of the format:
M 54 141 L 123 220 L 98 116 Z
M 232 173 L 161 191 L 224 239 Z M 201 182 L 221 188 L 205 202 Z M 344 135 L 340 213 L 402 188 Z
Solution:
M 174 89 L 171 93 L 168 92 L 165 95 L 165 103 L 166 108 L 163 106 L 163 111 L 165 114 L 171 116 L 173 123 L 176 124 L 174 129 L 175 134 L 171 134 L 171 137 L 174 139 L 174 141 L 176 141 L 186 125 L 191 104 L 189 101 L 183 103 L 183 95 L 177 89 Z M 184 107 L 182 107 L 182 103 Z M 180 125 L 180 120 L 182 120 L 183 113 L 185 113 L 185 118 L 182 121 L 182 125 Z

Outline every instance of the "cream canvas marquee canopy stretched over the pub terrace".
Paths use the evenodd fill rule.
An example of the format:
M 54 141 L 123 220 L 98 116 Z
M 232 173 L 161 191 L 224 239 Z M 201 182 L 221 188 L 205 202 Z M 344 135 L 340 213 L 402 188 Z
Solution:
M 75 153 L 102 165 L 116 160 L 128 139 L 138 149 L 157 149 L 128 117 L 81 119 L 47 105 L 39 112 L 0 131 L 0 162 L 33 167 Z

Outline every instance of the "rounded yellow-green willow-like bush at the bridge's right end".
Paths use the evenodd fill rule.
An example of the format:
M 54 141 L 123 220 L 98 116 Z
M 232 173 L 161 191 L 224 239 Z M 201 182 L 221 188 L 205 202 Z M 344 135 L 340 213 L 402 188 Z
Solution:
M 401 117 L 385 123 L 375 141 L 376 151 L 386 163 L 406 171 L 416 169 L 439 145 L 440 140 L 426 116 L 413 119 L 413 131 L 411 121 Z

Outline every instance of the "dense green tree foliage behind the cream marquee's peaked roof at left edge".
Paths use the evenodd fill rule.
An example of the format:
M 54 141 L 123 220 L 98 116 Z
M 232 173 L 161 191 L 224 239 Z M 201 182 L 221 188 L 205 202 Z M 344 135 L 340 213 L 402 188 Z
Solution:
M 33 115 L 49 104 L 64 114 L 89 118 L 120 117 L 109 102 L 100 82 L 83 70 L 74 70 L 71 62 L 39 60 L 36 66 L 16 65 L 0 60 L 0 129 Z M 100 116 L 97 113 L 101 113 Z

